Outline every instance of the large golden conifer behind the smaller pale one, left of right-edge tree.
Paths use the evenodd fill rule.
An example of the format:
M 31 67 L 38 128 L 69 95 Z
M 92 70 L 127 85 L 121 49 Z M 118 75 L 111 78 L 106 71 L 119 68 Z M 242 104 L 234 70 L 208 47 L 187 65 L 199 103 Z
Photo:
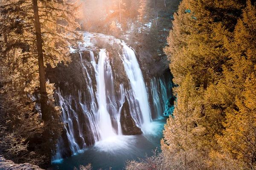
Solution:
M 167 39 L 169 46 L 164 49 L 171 62 L 174 82 L 182 85 L 187 73 L 190 73 L 197 87 L 197 90 L 191 92 L 201 99 L 201 102 L 192 104 L 198 108 L 198 122 L 194 130 L 200 127 L 201 135 L 192 136 L 192 140 L 197 139 L 196 155 L 204 157 L 204 166 L 209 165 L 206 162 L 211 162 L 211 150 L 219 148 L 216 136 L 223 133 L 222 122 L 226 119 L 226 109 L 233 107 L 234 96 L 224 80 L 225 67 L 230 67 L 229 48 L 226 44 L 233 38 L 233 31 L 244 7 L 244 1 L 236 0 L 183 0 L 174 15 L 173 30 Z M 178 98 L 185 95 L 177 91 Z M 177 100 L 177 108 L 180 105 L 183 105 L 182 102 Z M 169 124 L 165 129 L 166 133 L 171 129 Z M 182 130 L 180 133 L 184 132 Z M 197 157 L 194 157 L 194 161 Z

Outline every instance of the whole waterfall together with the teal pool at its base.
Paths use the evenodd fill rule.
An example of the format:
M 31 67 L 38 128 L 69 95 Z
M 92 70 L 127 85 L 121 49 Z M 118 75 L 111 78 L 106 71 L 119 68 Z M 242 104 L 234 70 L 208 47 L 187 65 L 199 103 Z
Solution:
M 99 36 L 104 38 L 103 34 Z M 148 84 L 145 83 L 134 50 L 116 40 L 122 47 L 119 56 L 122 65 L 119 66 L 123 67 L 128 80 L 128 84 L 116 85 L 115 79 L 119 76 L 113 74 L 114 63 L 108 51 L 99 49 L 95 56 L 93 48 L 88 48 L 93 46 L 93 37 L 85 33 L 86 43 L 78 51 L 86 90 L 67 92 L 58 88 L 55 91 L 56 104 L 62 109 L 61 121 L 65 125 L 52 164 L 61 170 L 73 170 L 75 166 L 88 163 L 94 169 L 112 167 L 112 170 L 119 170 L 126 160 L 143 158 L 145 153 L 151 154 L 152 149 L 160 148 L 163 136 L 166 123 L 163 113 L 172 96 L 171 77 L 152 77 Z M 83 51 L 89 51 L 90 57 L 85 59 Z M 122 135 L 125 127 L 120 119 L 125 102 L 143 134 Z M 123 114 L 127 116 L 126 112 Z M 63 158 L 70 152 L 72 156 Z

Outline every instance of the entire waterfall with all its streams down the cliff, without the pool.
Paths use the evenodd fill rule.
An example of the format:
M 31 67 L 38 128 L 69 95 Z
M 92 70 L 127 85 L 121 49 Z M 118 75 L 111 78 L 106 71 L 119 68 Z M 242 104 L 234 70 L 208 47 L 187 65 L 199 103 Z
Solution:
M 103 34 L 100 36 L 104 38 Z M 108 56 L 106 49 L 100 49 L 98 56 L 95 57 L 93 49 L 88 48 L 92 46 L 93 41 L 91 42 L 90 37 L 85 37 L 85 40 L 84 47 L 79 49 L 85 75 L 85 90 L 75 89 L 71 94 L 60 89 L 55 91 L 57 105 L 62 109 L 61 120 L 65 123 L 66 134 L 58 140 L 57 154 L 52 160 L 61 159 L 67 145 L 72 154 L 75 154 L 90 144 L 99 146 L 101 143 L 100 148 L 103 150 L 108 147 L 109 142 L 122 144 L 122 147 L 128 144 L 129 141 L 124 140 L 132 138 L 122 136 L 123 127 L 120 120 L 123 107 L 126 107 L 125 111 L 128 109 L 134 123 L 143 133 L 151 133 L 154 131 L 154 127 L 151 126 L 151 112 L 156 115 L 154 119 L 163 116 L 170 96 L 170 88 L 166 87 L 169 80 L 166 82 L 161 78 L 153 78 L 148 87 L 145 85 L 134 50 L 124 42 L 121 43 L 123 54 L 119 58 L 122 63 L 119 67 L 123 67 L 128 81 L 125 85 L 116 85 L 116 77 L 112 71 L 113 60 Z M 83 51 L 89 51 L 90 57 L 83 58 Z M 152 106 L 149 104 L 149 97 L 153 97 Z M 128 108 L 125 105 L 128 105 Z M 126 116 L 126 113 L 124 114 Z M 151 130 L 148 130 L 150 127 Z

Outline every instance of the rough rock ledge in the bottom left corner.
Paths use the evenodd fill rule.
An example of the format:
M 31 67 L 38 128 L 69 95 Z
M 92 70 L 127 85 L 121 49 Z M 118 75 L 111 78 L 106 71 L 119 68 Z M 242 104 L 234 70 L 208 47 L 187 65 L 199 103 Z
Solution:
M 15 164 L 13 161 L 4 159 L 0 156 L 0 170 L 43 170 L 38 166 L 32 164 Z

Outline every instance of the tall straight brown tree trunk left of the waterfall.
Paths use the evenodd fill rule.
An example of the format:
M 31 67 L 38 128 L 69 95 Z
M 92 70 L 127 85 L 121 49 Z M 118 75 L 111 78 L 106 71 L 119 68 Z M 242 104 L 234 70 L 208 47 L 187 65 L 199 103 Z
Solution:
M 38 14 L 38 0 L 33 0 L 33 9 L 35 15 L 35 34 L 36 34 L 36 45 L 38 52 L 38 67 L 39 67 L 39 81 L 40 81 L 40 94 L 41 94 L 41 113 L 42 119 L 44 121 L 49 120 L 49 115 L 47 115 L 47 91 L 46 91 L 46 81 L 45 81 L 45 71 L 44 71 L 44 55 L 42 46 L 42 33 L 41 25 L 39 21 Z

